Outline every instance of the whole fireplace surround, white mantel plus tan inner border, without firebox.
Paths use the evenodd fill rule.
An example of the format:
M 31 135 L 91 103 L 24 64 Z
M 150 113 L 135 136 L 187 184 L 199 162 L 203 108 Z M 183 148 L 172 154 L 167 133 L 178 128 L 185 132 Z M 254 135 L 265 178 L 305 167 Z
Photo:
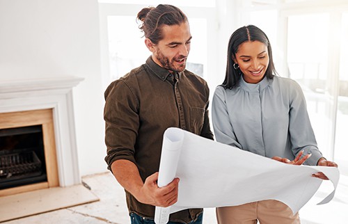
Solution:
M 47 179 L 1 189 L 0 196 L 80 184 L 72 88 L 83 79 L 52 77 L 0 82 L 0 129 L 42 127 Z

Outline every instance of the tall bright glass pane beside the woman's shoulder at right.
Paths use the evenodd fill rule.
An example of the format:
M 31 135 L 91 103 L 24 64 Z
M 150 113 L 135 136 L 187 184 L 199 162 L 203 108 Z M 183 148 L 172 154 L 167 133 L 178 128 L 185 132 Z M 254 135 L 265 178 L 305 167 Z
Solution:
M 287 24 L 287 66 L 302 87 L 320 151 L 331 157 L 331 96 L 327 69 L 329 14 L 292 15 Z M 329 138 L 328 138 L 329 136 Z

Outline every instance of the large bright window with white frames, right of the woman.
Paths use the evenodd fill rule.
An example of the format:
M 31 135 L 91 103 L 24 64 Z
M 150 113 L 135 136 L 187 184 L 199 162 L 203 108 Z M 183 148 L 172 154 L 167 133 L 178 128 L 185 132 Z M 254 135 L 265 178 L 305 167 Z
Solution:
M 269 36 L 276 70 L 303 89 L 319 150 L 339 163 L 342 175 L 348 175 L 347 3 L 255 0 L 251 4 L 246 8 L 250 23 Z

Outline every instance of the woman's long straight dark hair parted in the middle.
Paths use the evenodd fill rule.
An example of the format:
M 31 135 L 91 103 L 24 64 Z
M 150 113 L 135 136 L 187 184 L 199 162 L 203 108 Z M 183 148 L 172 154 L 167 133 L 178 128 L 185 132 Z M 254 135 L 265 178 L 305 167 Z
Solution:
M 242 26 L 237 29 L 230 36 L 228 42 L 228 51 L 227 51 L 227 66 L 226 66 L 226 77 L 221 86 L 224 88 L 230 88 L 237 86 L 239 79 L 242 77 L 242 71 L 238 68 L 237 70 L 233 67 L 235 63 L 234 59 L 236 57 L 239 46 L 246 41 L 255 41 L 258 40 L 264 45 L 267 46 L 269 54 L 269 65 L 267 67 L 266 73 L 264 74 L 268 79 L 273 79 L 274 74 L 277 74 L 276 68 L 273 63 L 271 43 L 267 38 L 267 35 L 259 29 L 257 26 L 248 25 Z

